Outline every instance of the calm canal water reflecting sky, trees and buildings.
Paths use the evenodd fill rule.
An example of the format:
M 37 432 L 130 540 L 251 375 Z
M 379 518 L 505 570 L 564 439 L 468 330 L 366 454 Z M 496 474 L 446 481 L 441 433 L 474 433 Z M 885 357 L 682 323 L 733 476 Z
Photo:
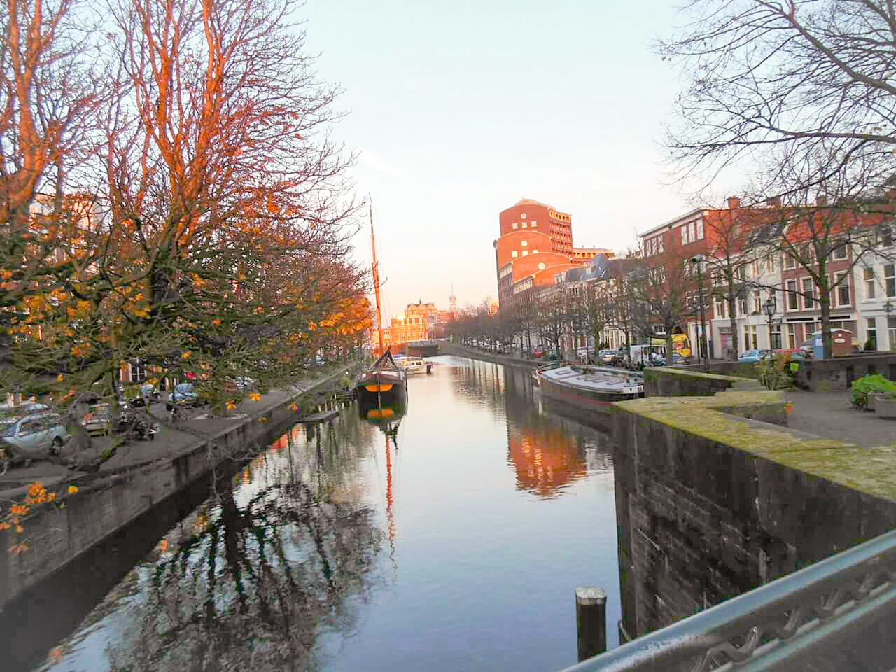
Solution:
M 406 408 L 292 427 L 211 483 L 37 668 L 547 671 L 587 584 L 616 646 L 607 435 L 528 370 L 433 360 Z

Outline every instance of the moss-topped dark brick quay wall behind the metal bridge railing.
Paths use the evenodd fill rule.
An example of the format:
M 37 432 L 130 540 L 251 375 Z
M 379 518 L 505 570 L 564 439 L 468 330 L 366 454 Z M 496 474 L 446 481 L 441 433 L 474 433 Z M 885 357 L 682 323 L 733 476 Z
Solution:
M 685 394 L 691 382 L 712 384 L 674 369 L 650 376 L 655 390 Z M 896 446 L 860 449 L 788 429 L 780 392 L 733 384 L 713 396 L 617 404 L 621 625 L 630 637 L 896 525 Z M 878 643 L 891 647 L 883 632 Z

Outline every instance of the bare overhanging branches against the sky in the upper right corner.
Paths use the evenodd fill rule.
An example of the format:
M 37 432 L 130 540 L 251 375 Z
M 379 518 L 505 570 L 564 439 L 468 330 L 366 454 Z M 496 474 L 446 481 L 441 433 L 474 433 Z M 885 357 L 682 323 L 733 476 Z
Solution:
M 888 0 L 693 0 L 659 52 L 689 87 L 667 142 L 684 175 L 729 166 L 758 194 L 892 174 L 896 9 Z M 797 182 L 788 167 L 801 166 Z

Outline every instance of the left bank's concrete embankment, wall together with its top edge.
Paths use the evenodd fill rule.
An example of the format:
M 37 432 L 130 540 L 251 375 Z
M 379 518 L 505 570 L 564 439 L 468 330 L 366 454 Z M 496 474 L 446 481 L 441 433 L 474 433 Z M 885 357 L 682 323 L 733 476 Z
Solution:
M 336 389 L 346 371 L 347 367 L 341 367 L 289 389 L 272 390 L 261 401 L 238 408 L 235 418 L 205 421 L 202 433 L 163 429 L 157 441 L 135 444 L 137 450 L 116 455 L 98 472 L 66 478 L 31 477 L 59 495 L 56 503 L 39 505 L 22 521 L 22 534 L 12 529 L 0 531 L 0 611 L 222 462 L 241 460 L 262 448 L 278 430 L 301 418 L 303 401 L 307 406 L 309 395 Z M 68 484 L 75 485 L 77 493 L 66 494 Z M 13 552 L 22 542 L 27 550 Z

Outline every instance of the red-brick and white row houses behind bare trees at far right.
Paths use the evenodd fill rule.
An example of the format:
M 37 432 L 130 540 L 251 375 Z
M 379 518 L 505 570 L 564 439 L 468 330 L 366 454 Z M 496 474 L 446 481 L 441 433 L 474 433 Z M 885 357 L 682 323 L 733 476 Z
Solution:
M 884 213 L 854 215 L 821 205 L 823 216 L 853 221 L 849 240 L 858 241 L 856 231 L 867 231 L 862 242 L 831 246 L 825 273 L 831 290 L 831 328 L 852 334 L 853 349 L 896 350 L 896 248 L 893 246 L 893 223 Z M 737 198 L 728 199 L 722 210 L 694 210 L 669 220 L 641 234 L 645 258 L 663 254 L 669 246 L 677 246 L 683 255 L 703 254 L 705 314 L 710 352 L 724 357 L 733 343 L 731 308 L 737 329 L 737 352 L 746 349 L 792 349 L 821 331 L 821 308 L 815 282 L 806 265 L 818 272 L 814 247 L 810 242 L 794 241 L 794 254 L 786 254 L 770 240 L 785 235 L 782 211 L 778 202 L 765 207 L 741 208 Z M 831 212 L 834 214 L 831 215 Z M 817 212 L 801 217 L 817 217 Z M 731 228 L 720 222 L 732 222 Z M 737 231 L 732 240 L 725 234 Z M 789 228 L 789 225 L 788 225 Z M 836 227 L 832 229 L 836 236 Z M 726 246 L 726 243 L 729 245 Z M 872 249 L 868 251 L 868 247 Z M 860 253 L 860 258 L 857 258 Z M 728 281 L 721 270 L 724 255 L 737 264 L 731 280 L 736 283 L 736 300 L 729 306 L 724 299 Z M 807 263 L 799 263 L 805 260 Z M 732 293 L 732 296 L 735 296 Z M 771 313 L 771 314 L 770 314 Z M 682 331 L 696 342 L 699 317 L 690 314 Z

